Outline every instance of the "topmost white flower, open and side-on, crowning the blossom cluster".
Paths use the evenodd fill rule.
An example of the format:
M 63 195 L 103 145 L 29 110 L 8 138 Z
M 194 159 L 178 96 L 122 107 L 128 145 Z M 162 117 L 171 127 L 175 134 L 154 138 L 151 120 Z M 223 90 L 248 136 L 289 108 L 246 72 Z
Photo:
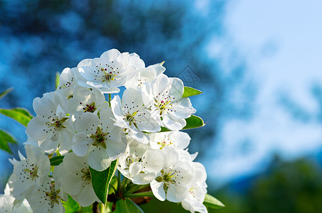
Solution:
M 129 53 L 119 53 L 112 49 L 103 53 L 100 58 L 82 60 L 77 67 L 84 80 L 82 87 L 97 87 L 105 93 L 117 93 L 117 87 L 135 75 L 136 68 L 129 65 Z

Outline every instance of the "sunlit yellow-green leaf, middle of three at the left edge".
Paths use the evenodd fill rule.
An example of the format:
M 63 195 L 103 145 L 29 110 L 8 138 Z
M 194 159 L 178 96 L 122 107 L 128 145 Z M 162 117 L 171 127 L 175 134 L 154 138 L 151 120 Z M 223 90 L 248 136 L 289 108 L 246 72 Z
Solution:
M 0 113 L 9 118 L 18 121 L 23 126 L 28 126 L 28 122 L 33 119 L 33 116 L 29 111 L 23 108 L 13 108 L 13 109 L 0 109 Z

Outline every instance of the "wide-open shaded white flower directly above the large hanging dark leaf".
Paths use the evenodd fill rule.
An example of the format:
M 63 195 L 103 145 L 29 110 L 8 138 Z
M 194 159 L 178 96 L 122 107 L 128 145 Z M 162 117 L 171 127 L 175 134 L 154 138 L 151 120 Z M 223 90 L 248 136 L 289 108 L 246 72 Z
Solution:
M 77 133 L 73 137 L 73 152 L 77 156 L 88 153 L 88 163 L 95 170 L 105 170 L 112 160 L 119 158 L 127 147 L 122 129 L 114 126 L 109 107 L 96 114 L 85 112 L 74 122 Z

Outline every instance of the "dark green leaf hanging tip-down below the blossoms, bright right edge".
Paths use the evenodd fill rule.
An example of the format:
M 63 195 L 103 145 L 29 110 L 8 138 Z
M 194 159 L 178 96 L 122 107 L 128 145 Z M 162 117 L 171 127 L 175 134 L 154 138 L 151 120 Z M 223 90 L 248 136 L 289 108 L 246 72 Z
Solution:
M 102 201 L 102 203 L 106 203 L 107 201 L 107 192 L 109 190 L 109 183 L 111 182 L 114 173 L 117 170 L 117 164 L 119 159 L 112 161 L 109 168 L 100 172 L 95 169 L 90 168 L 90 175 L 92 178 L 92 185 L 97 197 Z

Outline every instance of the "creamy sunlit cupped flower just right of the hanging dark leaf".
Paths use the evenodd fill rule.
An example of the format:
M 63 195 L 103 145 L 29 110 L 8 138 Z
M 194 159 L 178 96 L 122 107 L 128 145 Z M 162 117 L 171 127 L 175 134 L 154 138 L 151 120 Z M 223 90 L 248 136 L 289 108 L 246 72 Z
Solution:
M 132 139 L 124 155 L 119 158 L 118 169 L 134 184 L 144 185 L 156 178 L 163 163 L 164 156 L 161 151 L 149 149 L 147 144 Z

